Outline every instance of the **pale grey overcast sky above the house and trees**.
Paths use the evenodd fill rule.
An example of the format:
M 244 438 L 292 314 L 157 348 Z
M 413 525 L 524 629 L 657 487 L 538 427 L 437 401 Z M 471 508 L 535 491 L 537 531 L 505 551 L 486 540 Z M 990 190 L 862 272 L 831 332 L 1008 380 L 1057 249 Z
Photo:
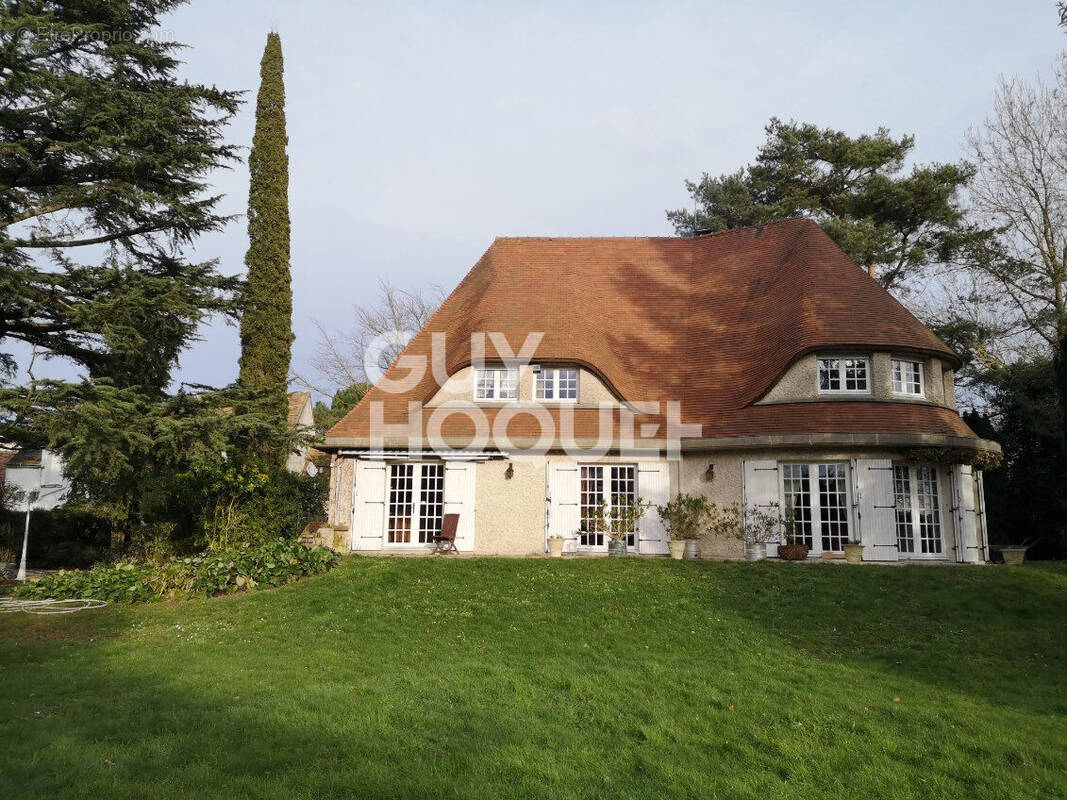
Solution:
M 1048 73 L 1067 45 L 1055 3 L 357 2 L 192 0 L 163 20 L 185 74 L 250 90 L 282 35 L 292 214 L 293 369 L 313 318 L 347 326 L 379 278 L 450 290 L 508 235 L 669 235 L 683 181 L 751 160 L 770 116 L 914 133 L 956 160 L 1000 75 Z M 242 213 L 248 172 L 219 174 Z M 198 257 L 243 269 L 244 221 Z M 216 325 L 181 378 L 236 375 Z

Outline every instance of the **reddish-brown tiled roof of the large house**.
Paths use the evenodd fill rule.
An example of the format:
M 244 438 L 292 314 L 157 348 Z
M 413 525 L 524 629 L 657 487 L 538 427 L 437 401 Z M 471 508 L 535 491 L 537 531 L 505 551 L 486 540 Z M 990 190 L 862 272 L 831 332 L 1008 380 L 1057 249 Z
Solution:
M 503 333 L 517 352 L 526 334 L 538 331 L 544 337 L 535 361 L 585 365 L 627 401 L 678 400 L 683 421 L 701 425 L 705 437 L 974 436 L 955 412 L 922 404 L 753 405 L 814 350 L 892 350 L 958 364 L 943 341 L 807 220 L 696 238 L 497 239 L 404 354 L 429 359 L 432 334 L 444 333 L 452 374 L 472 362 L 472 333 Z M 487 359 L 500 357 L 488 338 L 485 348 Z M 386 377 L 405 374 L 394 365 Z M 429 370 L 401 394 L 372 388 L 330 430 L 327 445 L 368 436 L 370 403 L 382 401 L 384 421 L 399 423 L 410 401 L 426 403 L 437 388 Z M 593 425 L 592 417 L 586 421 Z M 464 422 L 457 417 L 450 425 Z

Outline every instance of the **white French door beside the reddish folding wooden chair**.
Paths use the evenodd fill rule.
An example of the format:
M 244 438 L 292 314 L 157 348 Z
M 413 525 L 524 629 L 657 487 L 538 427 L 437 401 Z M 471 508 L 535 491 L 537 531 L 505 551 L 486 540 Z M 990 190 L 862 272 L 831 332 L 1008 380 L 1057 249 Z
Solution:
M 444 511 L 443 463 L 389 466 L 386 544 L 432 544 L 433 537 L 441 532 Z

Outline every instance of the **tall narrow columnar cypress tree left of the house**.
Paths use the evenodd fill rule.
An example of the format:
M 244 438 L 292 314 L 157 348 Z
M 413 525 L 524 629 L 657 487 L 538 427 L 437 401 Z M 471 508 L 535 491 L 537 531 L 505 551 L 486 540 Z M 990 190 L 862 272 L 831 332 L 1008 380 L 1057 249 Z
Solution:
M 249 156 L 248 285 L 241 316 L 241 386 L 286 421 L 286 388 L 292 345 L 289 286 L 289 157 L 286 155 L 282 39 L 267 35 L 259 65 L 256 129 Z M 264 453 L 284 458 L 283 453 Z

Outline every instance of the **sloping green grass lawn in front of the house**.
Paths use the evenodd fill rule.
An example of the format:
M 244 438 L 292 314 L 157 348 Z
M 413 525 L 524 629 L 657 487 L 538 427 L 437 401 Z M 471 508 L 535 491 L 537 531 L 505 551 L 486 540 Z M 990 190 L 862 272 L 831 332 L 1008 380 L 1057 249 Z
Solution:
M 1063 798 L 1067 567 L 350 558 L 0 619 L 0 797 Z

